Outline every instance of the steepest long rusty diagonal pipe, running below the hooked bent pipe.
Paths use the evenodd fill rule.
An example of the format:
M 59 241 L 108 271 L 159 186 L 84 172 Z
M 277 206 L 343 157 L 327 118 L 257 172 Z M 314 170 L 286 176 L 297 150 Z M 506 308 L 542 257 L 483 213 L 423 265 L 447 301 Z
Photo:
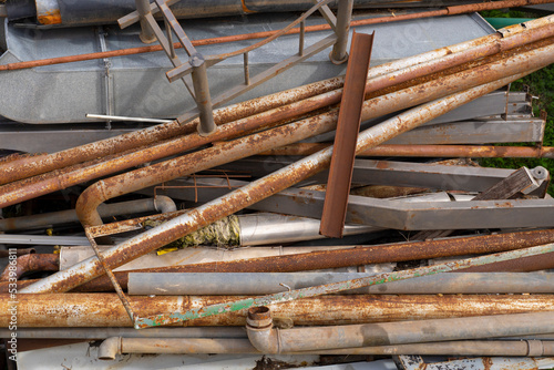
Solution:
M 550 58 L 554 59 L 554 54 L 551 53 Z M 545 62 L 550 63 L 550 60 L 547 58 L 546 61 L 544 61 L 542 58 L 538 60 L 541 60 L 543 64 Z M 504 78 L 493 83 L 488 83 L 482 86 L 473 88 L 465 92 L 453 94 L 448 97 L 424 104 L 420 107 L 404 112 L 394 119 L 388 120 L 363 131 L 358 138 L 356 150 L 357 153 L 362 152 L 368 147 L 379 145 L 387 140 L 401 134 L 402 132 L 411 130 L 424 122 L 434 119 L 435 116 L 444 114 L 450 110 L 453 110 L 481 95 L 494 91 L 505 85 L 506 83 L 521 78 L 522 75 L 531 73 L 533 70 L 527 63 L 519 64 L 521 64 L 520 68 L 523 68 L 524 70 L 526 69 L 526 72 L 517 75 L 512 75 L 510 78 Z M 494 73 L 491 74 L 494 75 Z M 369 105 L 369 111 L 371 112 L 370 107 L 371 105 Z M 365 106 L 365 110 L 366 109 L 368 109 L 368 106 Z M 312 120 L 308 120 L 308 122 Z M 320 129 L 320 125 L 321 124 L 318 124 L 317 127 L 312 127 L 312 130 L 316 131 L 317 129 Z M 263 134 L 266 133 L 267 132 Z M 248 138 L 246 138 L 245 142 L 248 143 Z M 228 144 L 229 143 L 223 145 Z M 259 145 L 257 141 L 249 144 L 254 146 Z M 274 146 L 277 146 L 277 144 L 275 144 Z M 257 147 L 256 150 L 258 150 L 257 152 L 261 152 L 264 148 Z M 249 185 L 244 186 L 243 188 L 234 191 L 224 197 L 209 202 L 196 209 L 178 216 L 140 236 L 131 238 L 105 251 L 103 254 L 105 264 L 111 268 L 119 267 L 184 235 L 187 235 L 202 226 L 206 226 L 222 217 L 240 210 L 250 204 L 259 202 L 268 197 L 269 195 L 278 193 L 325 169 L 326 166 L 329 165 L 330 156 L 330 148 L 321 151 L 269 176 L 253 182 Z M 202 157 L 199 160 L 202 160 Z M 141 186 L 141 184 L 136 183 L 137 182 L 133 183 L 133 186 Z M 102 188 L 102 191 L 107 192 L 110 189 Z M 84 194 L 85 193 L 81 195 L 79 201 L 83 198 Z M 96 206 L 98 204 L 94 205 L 94 210 Z M 84 214 L 86 215 L 86 213 Z M 73 266 L 72 268 L 69 268 L 65 271 L 57 273 L 37 284 L 22 289 L 22 292 L 68 291 L 103 274 L 103 267 L 99 263 L 98 258 L 89 258 Z

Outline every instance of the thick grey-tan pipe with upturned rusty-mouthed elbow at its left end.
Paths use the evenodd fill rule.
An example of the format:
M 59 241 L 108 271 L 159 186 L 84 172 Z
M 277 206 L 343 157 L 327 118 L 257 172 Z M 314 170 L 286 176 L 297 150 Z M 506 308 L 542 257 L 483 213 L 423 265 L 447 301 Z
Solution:
M 250 308 L 246 330 L 264 353 L 468 340 L 554 332 L 553 312 L 481 316 L 319 328 L 271 328 L 267 307 Z

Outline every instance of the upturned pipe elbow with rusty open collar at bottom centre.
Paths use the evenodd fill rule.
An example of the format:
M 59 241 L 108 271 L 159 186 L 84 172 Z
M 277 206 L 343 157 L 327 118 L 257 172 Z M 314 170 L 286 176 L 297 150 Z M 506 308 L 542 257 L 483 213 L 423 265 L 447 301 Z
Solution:
M 246 318 L 246 333 L 252 346 L 264 354 L 280 353 L 279 329 L 273 328 L 269 308 L 253 307 Z

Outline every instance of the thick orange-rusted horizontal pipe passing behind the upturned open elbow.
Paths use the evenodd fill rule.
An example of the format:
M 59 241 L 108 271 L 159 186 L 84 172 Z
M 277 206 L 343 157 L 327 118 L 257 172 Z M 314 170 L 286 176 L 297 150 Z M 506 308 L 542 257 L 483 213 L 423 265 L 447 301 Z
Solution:
M 237 296 L 134 296 L 141 316 L 186 312 L 195 307 L 234 301 Z M 132 327 L 115 294 L 18 295 L 18 327 Z M 0 295 L 0 326 L 11 314 L 8 295 Z M 332 309 L 329 309 L 332 307 Z M 552 311 L 552 295 L 350 295 L 300 299 L 271 306 L 276 318 L 294 325 L 350 325 L 482 315 Z M 243 326 L 246 311 L 195 319 L 184 326 Z

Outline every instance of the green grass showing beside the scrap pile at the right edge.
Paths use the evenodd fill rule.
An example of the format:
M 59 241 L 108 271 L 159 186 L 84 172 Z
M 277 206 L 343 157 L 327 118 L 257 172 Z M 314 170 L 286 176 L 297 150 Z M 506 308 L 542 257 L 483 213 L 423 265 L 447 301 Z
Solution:
M 482 13 L 483 17 L 505 17 L 505 18 L 525 18 L 530 13 L 521 11 L 502 11 L 492 10 Z M 545 111 L 547 114 L 546 129 L 544 132 L 544 146 L 554 146 L 554 64 L 551 64 L 535 73 L 532 73 L 521 80 L 512 83 L 511 91 L 523 91 L 524 86 L 529 86 L 530 93 L 537 96 L 533 100 L 533 113 L 535 116 Z M 506 144 L 506 145 L 529 145 L 529 144 Z M 543 166 L 551 174 L 554 174 L 554 160 L 546 158 L 482 158 L 479 161 L 482 166 L 501 167 L 501 168 L 520 168 L 526 166 L 533 168 Z M 548 194 L 554 196 L 554 185 L 548 187 Z

